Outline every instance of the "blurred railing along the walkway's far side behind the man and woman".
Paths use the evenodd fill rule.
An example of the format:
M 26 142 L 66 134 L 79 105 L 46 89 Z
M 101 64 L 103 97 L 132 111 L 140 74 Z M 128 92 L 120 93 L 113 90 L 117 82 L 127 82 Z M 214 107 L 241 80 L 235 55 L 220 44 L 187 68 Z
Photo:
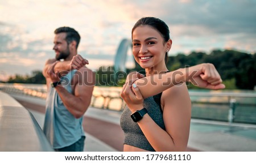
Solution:
M 91 106 L 121 111 L 125 102 L 120 97 L 121 87 L 94 87 Z M 8 93 L 46 98 L 44 84 L 1 84 Z M 255 91 L 189 91 L 192 118 L 256 124 Z

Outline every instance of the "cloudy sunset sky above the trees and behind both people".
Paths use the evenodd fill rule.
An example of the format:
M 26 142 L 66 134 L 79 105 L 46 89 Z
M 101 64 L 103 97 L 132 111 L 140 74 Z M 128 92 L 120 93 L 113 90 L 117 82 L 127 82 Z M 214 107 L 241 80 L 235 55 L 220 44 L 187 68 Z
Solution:
M 256 53 L 256 0 L 0 0 L 0 80 L 31 75 L 54 58 L 53 31 L 75 28 L 88 67 L 113 66 L 138 19 L 153 16 L 170 28 L 169 55 L 214 49 Z M 131 49 L 127 67 L 134 65 Z M 171 61 L 170 61 L 171 62 Z

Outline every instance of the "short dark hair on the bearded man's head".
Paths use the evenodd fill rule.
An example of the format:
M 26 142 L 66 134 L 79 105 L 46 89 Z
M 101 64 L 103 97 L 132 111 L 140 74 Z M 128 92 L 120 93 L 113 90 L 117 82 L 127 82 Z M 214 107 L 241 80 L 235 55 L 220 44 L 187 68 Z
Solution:
M 60 27 L 55 29 L 54 31 L 55 34 L 62 33 L 62 32 L 67 33 L 65 40 L 68 42 L 68 44 L 71 43 L 72 41 L 76 41 L 76 49 L 77 49 L 80 42 L 80 38 L 81 38 L 79 33 L 75 29 L 70 27 Z

